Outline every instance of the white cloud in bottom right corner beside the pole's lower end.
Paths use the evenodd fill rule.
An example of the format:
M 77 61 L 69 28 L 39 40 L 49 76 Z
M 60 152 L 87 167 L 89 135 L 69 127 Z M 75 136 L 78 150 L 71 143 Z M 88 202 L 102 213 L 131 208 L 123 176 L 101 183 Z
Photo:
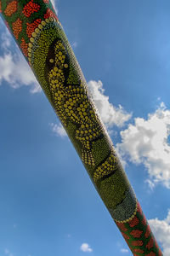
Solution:
M 170 255 L 170 210 L 168 210 L 167 218 L 159 220 L 152 218 L 149 221 L 150 228 L 156 236 L 156 240 L 161 243 L 163 255 Z

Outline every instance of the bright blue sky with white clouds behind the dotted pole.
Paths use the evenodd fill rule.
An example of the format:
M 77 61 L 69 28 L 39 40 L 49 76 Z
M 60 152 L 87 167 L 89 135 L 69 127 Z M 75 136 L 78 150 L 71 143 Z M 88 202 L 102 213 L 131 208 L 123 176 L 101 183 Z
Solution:
M 55 7 L 168 256 L 170 2 Z M 2 20 L 0 37 L 0 255 L 132 255 Z

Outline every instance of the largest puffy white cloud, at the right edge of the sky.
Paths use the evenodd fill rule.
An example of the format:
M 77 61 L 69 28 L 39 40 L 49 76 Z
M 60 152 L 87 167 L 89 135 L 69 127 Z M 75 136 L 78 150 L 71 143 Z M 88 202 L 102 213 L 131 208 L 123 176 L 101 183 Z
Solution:
M 134 125 L 121 131 L 122 143 L 116 144 L 121 157 L 144 164 L 150 188 L 158 182 L 170 189 L 170 110 L 163 103 L 147 119 L 136 118 Z M 129 158 L 130 157 L 130 158 Z

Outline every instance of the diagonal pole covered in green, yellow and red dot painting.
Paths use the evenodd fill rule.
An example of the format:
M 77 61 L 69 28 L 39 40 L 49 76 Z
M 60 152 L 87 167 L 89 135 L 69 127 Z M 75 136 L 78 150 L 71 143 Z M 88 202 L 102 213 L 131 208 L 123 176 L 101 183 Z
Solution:
M 0 0 L 0 12 L 133 255 L 161 256 L 52 3 Z

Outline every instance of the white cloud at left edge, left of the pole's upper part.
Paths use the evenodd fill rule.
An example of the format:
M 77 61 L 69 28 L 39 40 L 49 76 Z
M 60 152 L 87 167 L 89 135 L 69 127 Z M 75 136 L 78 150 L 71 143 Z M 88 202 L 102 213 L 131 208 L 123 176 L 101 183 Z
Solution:
M 5 81 L 14 89 L 20 88 L 22 85 L 31 85 L 31 93 L 41 91 L 42 89 L 37 83 L 37 79 L 17 46 L 14 46 L 15 52 L 11 51 L 11 48 L 13 48 L 12 37 L 3 23 L 1 25 L 3 55 L 0 55 L 0 84 Z

